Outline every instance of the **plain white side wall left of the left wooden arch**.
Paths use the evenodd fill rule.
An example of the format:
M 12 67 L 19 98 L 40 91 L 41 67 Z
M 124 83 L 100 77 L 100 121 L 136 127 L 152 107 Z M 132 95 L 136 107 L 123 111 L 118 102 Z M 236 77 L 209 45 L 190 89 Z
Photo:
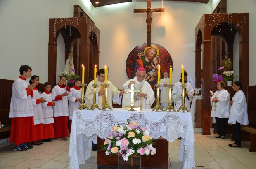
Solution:
M 17 79 L 26 64 L 48 80 L 49 18 L 73 17 L 73 5 L 92 16 L 89 0 L 0 0 L 0 79 Z

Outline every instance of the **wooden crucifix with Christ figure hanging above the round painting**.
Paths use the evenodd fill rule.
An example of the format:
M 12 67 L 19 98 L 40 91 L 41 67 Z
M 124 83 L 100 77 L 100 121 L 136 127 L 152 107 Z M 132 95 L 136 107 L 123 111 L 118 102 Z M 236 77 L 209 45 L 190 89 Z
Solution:
M 147 47 L 151 47 L 151 23 L 153 18 L 151 17 L 153 12 L 164 12 L 164 8 L 151 8 L 151 0 L 147 0 L 147 9 L 133 9 L 133 13 L 147 13 Z

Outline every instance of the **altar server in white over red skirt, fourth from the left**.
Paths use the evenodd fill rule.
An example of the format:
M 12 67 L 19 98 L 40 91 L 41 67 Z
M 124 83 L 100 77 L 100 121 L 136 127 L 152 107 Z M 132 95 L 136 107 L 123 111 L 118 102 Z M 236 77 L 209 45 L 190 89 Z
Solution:
M 55 106 L 53 108 L 53 127 L 55 139 L 57 140 L 66 140 L 66 137 L 69 136 L 69 93 L 70 89 L 66 82 L 66 77 L 60 76 L 59 84 L 54 86 L 52 89 L 52 100 L 55 102 Z

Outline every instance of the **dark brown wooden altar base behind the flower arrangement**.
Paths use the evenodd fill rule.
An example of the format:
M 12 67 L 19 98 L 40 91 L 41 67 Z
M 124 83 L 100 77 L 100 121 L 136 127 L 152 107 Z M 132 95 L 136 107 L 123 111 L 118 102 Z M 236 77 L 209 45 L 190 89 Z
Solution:
M 159 137 L 154 141 L 156 144 L 156 154 L 147 157 L 142 156 L 141 167 L 142 169 L 168 169 L 169 161 L 169 142 Z M 103 145 L 104 140 L 97 137 L 97 145 Z M 101 148 L 97 147 L 97 166 L 98 169 L 117 169 L 117 155 L 106 155 L 105 151 L 99 151 Z

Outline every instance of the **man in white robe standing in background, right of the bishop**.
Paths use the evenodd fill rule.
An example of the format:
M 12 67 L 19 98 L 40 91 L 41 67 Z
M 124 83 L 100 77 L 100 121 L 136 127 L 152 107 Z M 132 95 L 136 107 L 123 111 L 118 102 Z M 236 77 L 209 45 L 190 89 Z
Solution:
M 161 95 L 160 95 L 160 103 L 161 107 L 166 109 L 166 107 L 169 104 L 169 87 L 168 84 L 170 82 L 170 79 L 168 78 L 168 73 L 164 73 L 164 78 L 160 80 L 160 84 L 162 85 L 159 89 L 161 90 Z

